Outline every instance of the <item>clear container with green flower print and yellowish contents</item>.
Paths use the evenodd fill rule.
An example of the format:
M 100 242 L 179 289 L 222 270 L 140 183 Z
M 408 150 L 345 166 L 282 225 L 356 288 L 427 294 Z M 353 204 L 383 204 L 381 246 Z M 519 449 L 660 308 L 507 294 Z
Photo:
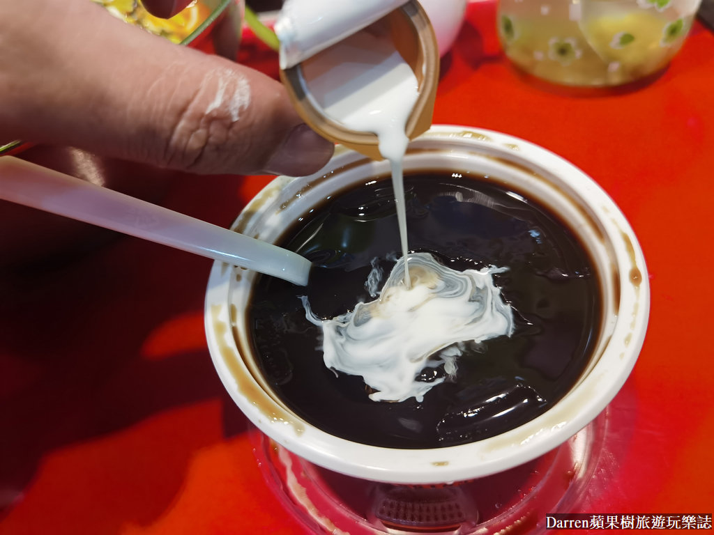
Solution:
M 567 86 L 653 76 L 679 51 L 700 0 L 500 0 L 498 35 L 526 73 Z

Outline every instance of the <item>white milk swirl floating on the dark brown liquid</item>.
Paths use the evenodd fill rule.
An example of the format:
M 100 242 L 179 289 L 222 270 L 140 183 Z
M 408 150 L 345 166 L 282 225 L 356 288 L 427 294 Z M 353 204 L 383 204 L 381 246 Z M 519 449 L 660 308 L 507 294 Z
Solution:
M 461 342 L 511 335 L 513 312 L 493 285 L 496 267 L 459 272 L 428 253 L 409 255 L 413 285 L 403 284 L 404 258 L 386 280 L 378 299 L 323 320 L 310 309 L 306 317 L 322 330 L 325 365 L 363 377 L 376 392 L 373 401 L 417 401 L 444 377 L 416 379 L 425 368 L 456 372 Z

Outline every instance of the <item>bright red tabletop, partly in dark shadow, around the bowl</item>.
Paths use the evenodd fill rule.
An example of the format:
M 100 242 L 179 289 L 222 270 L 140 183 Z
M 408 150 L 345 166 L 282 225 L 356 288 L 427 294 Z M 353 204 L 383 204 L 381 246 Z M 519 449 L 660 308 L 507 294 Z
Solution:
M 492 3 L 471 4 L 434 122 L 575 163 L 620 205 L 648 263 L 647 339 L 615 399 L 608 473 L 580 512 L 711 513 L 714 36 L 695 24 L 648 85 L 574 96 L 519 76 L 494 23 Z M 250 42 L 241 58 L 275 72 Z M 227 226 L 267 181 L 177 175 L 164 205 Z M 306 533 L 264 484 L 213 370 L 210 265 L 121 238 L 0 282 L 1 535 Z

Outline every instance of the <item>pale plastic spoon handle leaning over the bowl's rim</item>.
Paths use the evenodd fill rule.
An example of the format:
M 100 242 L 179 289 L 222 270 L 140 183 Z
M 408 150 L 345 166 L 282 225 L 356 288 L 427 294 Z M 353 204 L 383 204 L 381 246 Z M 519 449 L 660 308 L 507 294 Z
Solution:
M 13 156 L 0 158 L 0 199 L 298 285 L 308 281 L 311 263 L 297 253 Z

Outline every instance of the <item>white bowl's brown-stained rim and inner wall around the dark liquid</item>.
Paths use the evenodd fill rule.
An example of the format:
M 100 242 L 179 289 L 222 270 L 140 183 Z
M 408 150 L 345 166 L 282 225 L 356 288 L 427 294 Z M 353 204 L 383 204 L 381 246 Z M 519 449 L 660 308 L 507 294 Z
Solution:
M 213 363 L 231 397 L 253 424 L 286 449 L 353 477 L 405 484 L 448 483 L 501 472 L 539 457 L 585 427 L 613 399 L 645 337 L 649 287 L 638 241 L 613 200 L 582 171 L 532 143 L 460 126 L 434 126 L 411 143 L 405 170 L 424 168 L 498 177 L 568 220 L 599 272 L 603 328 L 577 384 L 530 422 L 460 446 L 373 447 L 313 427 L 271 392 L 252 360 L 244 327 L 256 273 L 216 263 L 206 294 L 206 332 Z M 331 193 L 386 173 L 385 162 L 338 148 L 326 168 L 314 175 L 276 178 L 248 204 L 233 228 L 274 241 Z

